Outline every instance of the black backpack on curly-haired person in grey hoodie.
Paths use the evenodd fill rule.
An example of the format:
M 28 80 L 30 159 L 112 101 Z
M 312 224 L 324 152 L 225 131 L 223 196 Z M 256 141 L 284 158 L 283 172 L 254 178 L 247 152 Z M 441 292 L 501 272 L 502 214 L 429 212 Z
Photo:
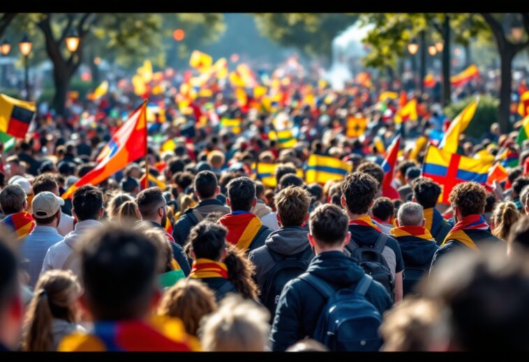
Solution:
M 308 264 L 310 264 L 310 260 L 307 260 L 307 257 L 312 253 L 312 249 L 308 247 L 295 255 L 281 255 L 268 247 L 267 250 L 274 260 L 274 267 L 267 273 L 267 277 L 264 280 L 261 302 L 270 311 L 271 318 L 274 318 L 277 302 L 283 287 L 285 287 L 287 282 L 307 270 Z

